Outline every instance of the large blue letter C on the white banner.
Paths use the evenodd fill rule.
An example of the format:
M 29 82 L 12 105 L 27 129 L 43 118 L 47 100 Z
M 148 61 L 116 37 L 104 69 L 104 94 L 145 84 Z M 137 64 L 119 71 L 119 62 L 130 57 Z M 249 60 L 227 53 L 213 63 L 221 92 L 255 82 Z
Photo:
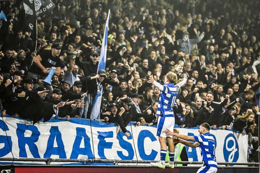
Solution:
M 138 135 L 138 140 L 137 140 L 139 155 L 142 160 L 154 160 L 155 157 L 157 156 L 158 152 L 152 149 L 151 154 L 149 154 L 149 155 L 145 154 L 145 149 L 144 149 L 144 139 L 145 138 L 150 138 L 152 142 L 157 140 L 154 137 L 153 133 L 151 133 L 149 130 L 140 131 L 140 133 Z

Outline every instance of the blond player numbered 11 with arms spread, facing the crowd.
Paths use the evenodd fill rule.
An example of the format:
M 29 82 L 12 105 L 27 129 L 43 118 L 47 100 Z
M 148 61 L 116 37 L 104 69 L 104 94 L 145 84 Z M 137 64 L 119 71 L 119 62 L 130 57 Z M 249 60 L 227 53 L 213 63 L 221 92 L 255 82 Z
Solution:
M 151 163 L 151 165 L 156 166 L 157 168 L 164 169 L 165 166 L 173 169 L 174 168 L 174 144 L 172 141 L 172 136 L 166 134 L 164 131 L 169 129 L 173 131 L 174 128 L 174 112 L 173 105 L 178 96 L 178 91 L 181 86 L 183 86 L 187 81 L 187 75 L 184 74 L 183 80 L 178 84 L 174 85 L 178 80 L 177 74 L 173 72 L 168 72 L 164 79 L 164 85 L 156 82 L 153 76 L 149 76 L 148 83 L 153 83 L 154 86 L 161 90 L 161 95 L 159 97 L 157 116 L 158 116 L 158 124 L 157 124 L 157 136 L 159 136 L 159 142 L 161 145 L 161 159 L 157 163 Z M 169 146 L 169 157 L 170 163 L 165 164 L 165 157 L 167 153 L 167 145 L 166 140 Z

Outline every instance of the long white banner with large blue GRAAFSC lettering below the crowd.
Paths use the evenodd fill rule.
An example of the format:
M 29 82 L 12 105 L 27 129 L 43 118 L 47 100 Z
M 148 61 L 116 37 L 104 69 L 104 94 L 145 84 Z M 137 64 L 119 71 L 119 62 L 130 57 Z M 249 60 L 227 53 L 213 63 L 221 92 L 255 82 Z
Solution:
M 92 121 L 93 152 L 90 121 L 87 119 L 51 119 L 35 125 L 31 121 L 13 117 L 4 117 L 3 120 L 0 120 L 0 157 L 12 157 L 13 153 L 16 158 L 92 159 L 95 156 L 102 159 L 136 160 L 137 155 L 138 160 L 160 159 L 156 126 L 134 127 L 129 124 L 127 130 L 131 136 L 127 138 L 123 132 L 118 132 L 118 126 L 114 123 Z M 189 136 L 199 134 L 198 128 L 178 130 Z M 246 136 L 229 130 L 210 130 L 210 133 L 216 138 L 218 162 L 247 162 Z M 186 146 L 186 151 L 189 161 L 201 161 L 199 148 Z

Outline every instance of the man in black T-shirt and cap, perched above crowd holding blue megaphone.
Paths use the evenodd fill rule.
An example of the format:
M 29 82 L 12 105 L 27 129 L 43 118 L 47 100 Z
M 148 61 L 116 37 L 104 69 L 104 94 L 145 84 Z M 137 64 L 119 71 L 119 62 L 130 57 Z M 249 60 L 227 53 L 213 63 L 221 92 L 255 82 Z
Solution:
M 34 58 L 34 63 L 31 65 L 31 68 L 28 72 L 28 77 L 34 78 L 37 80 L 37 83 L 34 85 L 34 90 L 37 89 L 40 84 L 43 84 L 47 90 L 49 90 L 49 95 L 51 95 L 53 88 L 48 82 L 42 82 L 48 73 L 51 67 L 55 67 L 54 74 L 60 75 L 60 51 L 62 46 L 60 43 L 54 43 L 51 46 L 51 50 L 44 50 L 36 58 Z M 54 68 L 52 68 L 54 69 Z

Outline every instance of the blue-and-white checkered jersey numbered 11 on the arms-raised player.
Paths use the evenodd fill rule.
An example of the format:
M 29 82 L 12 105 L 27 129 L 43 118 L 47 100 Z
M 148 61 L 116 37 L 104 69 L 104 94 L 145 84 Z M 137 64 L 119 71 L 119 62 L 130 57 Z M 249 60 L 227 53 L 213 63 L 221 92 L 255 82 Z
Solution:
M 174 117 L 173 104 L 178 96 L 180 87 L 172 83 L 163 85 L 163 87 L 158 102 L 157 116 Z

